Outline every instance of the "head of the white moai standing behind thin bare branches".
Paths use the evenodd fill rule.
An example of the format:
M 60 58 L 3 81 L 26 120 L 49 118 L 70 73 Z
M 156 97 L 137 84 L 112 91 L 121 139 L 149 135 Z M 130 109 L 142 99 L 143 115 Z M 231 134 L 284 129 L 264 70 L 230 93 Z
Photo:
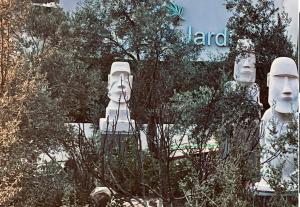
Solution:
M 125 103 L 131 95 L 133 76 L 127 62 L 114 62 L 108 75 L 108 97 L 111 101 Z

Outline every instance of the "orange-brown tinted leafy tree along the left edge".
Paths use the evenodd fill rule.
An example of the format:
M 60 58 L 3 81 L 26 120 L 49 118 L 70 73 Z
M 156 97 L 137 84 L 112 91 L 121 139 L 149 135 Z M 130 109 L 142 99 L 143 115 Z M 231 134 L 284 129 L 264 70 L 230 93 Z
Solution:
M 38 55 L 30 62 L 21 52 L 20 37 L 24 34 L 29 2 L 3 4 L 1 20 L 6 19 L 7 24 L 1 37 L 8 42 L 2 42 L 6 47 L 1 50 L 6 62 L 1 65 L 4 76 L 0 96 L 0 204 L 57 206 L 63 188 L 60 181 L 66 176 L 52 154 L 61 149 L 58 140 L 70 133 L 64 126 L 64 114 L 50 98 L 45 77 L 37 69 Z M 52 161 L 42 164 L 42 153 Z

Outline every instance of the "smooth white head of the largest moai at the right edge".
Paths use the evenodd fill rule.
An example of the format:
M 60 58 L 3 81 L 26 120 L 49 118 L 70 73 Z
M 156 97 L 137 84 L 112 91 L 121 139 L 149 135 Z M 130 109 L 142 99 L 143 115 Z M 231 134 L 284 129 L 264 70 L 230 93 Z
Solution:
M 276 58 L 268 74 L 268 102 L 280 113 L 293 113 L 298 108 L 299 77 L 294 60 Z

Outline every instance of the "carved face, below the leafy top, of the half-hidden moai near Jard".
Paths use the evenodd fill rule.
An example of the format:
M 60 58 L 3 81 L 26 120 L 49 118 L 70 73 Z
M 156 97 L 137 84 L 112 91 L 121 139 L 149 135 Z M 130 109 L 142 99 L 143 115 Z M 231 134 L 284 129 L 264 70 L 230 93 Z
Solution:
M 254 83 L 256 79 L 256 58 L 253 53 L 238 55 L 234 63 L 234 79 L 239 82 Z

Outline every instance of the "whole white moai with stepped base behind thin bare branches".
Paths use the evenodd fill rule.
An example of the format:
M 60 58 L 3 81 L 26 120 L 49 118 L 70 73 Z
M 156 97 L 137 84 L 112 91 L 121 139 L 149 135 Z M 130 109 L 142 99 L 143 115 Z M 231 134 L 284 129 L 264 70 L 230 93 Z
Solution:
M 102 134 L 132 134 L 134 120 L 130 119 L 128 101 L 131 95 L 133 76 L 127 62 L 114 62 L 108 75 L 108 97 L 105 118 L 100 119 Z

